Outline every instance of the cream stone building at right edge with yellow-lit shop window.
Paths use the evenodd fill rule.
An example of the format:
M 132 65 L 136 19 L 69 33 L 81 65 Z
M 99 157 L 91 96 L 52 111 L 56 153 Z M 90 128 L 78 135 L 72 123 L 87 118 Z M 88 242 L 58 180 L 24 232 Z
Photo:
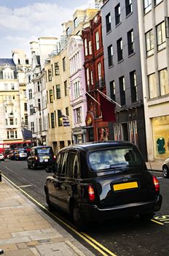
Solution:
M 169 154 L 169 2 L 138 1 L 146 144 L 150 161 Z

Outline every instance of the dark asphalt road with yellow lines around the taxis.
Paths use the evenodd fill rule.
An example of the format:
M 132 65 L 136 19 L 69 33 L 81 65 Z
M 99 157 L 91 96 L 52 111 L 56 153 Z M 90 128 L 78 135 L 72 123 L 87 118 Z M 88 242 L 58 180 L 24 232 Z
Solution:
M 44 169 L 30 170 L 25 161 L 6 160 L 0 162 L 0 170 L 4 176 L 46 207 L 44 181 L 47 173 Z M 90 241 L 95 244 L 98 243 L 100 248 L 103 247 L 105 255 L 169 255 L 169 179 L 162 178 L 162 173 L 153 172 L 153 174 L 160 181 L 163 202 L 161 210 L 151 222 L 143 222 L 137 217 L 112 219 L 109 222 L 99 223 L 99 225 L 90 225 L 90 229 L 84 233 L 84 236 Z M 71 222 L 71 219 L 63 212 L 57 211 L 57 214 L 60 219 L 64 218 L 66 222 Z M 91 244 L 82 241 L 78 234 L 72 233 L 72 230 L 69 232 L 92 250 L 95 255 L 103 255 L 103 253 L 93 249 Z

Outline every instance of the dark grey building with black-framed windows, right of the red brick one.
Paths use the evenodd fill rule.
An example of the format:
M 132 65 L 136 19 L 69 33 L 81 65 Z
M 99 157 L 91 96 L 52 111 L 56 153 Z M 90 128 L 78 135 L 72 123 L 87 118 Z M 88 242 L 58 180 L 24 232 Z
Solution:
M 129 140 L 146 154 L 138 1 L 109 0 L 101 7 L 107 95 L 118 105 L 111 137 Z

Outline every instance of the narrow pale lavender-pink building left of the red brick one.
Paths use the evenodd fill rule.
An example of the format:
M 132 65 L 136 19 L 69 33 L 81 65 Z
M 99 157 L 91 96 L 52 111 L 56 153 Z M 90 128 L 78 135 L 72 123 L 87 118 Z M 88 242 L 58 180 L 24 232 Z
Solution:
M 84 47 L 82 37 L 71 36 L 68 44 L 68 58 L 70 63 L 70 96 L 72 107 L 72 137 L 74 143 L 86 141 L 86 113 L 87 99 L 84 75 Z

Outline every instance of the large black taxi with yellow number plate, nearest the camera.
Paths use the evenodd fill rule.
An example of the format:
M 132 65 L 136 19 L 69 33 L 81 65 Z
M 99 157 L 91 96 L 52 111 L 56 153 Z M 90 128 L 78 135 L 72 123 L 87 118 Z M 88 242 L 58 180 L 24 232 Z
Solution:
M 71 214 L 80 230 L 87 222 L 113 217 L 139 215 L 149 220 L 160 210 L 159 181 L 133 143 L 68 146 L 58 152 L 56 162 L 44 185 L 47 205 Z

